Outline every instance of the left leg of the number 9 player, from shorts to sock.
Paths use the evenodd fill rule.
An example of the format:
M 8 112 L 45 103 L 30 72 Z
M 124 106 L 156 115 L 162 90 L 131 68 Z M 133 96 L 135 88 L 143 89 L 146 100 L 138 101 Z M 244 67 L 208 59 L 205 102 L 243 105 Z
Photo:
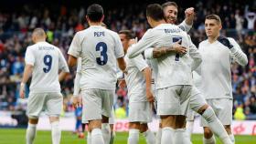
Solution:
M 27 100 L 28 125 L 26 131 L 27 144 L 32 144 L 37 135 L 37 122 L 40 112 L 44 107 L 45 96 L 29 94 Z

